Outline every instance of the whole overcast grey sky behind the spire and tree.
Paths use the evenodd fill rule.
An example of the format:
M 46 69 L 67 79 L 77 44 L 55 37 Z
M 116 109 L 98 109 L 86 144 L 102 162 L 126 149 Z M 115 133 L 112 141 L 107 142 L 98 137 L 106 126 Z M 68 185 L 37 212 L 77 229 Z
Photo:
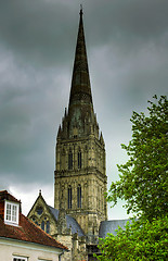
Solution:
M 0 189 L 27 214 L 53 206 L 54 150 L 68 105 L 80 3 L 108 187 L 127 156 L 132 111 L 167 95 L 168 0 L 0 0 Z M 108 210 L 125 219 L 126 210 Z

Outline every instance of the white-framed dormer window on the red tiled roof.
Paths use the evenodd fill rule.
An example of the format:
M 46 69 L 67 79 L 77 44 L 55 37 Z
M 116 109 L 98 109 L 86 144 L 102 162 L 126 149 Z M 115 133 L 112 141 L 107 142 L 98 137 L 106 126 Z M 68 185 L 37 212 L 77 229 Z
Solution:
M 5 200 L 4 223 L 18 225 L 18 203 Z

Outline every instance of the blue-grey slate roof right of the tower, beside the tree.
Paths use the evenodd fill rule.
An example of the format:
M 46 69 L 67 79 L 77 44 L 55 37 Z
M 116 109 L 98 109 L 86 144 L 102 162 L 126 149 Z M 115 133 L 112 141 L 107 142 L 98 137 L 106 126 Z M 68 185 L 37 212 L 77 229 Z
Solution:
M 121 228 L 125 228 L 127 222 L 130 222 L 130 220 L 111 220 L 111 221 L 102 221 L 100 225 L 99 231 L 99 237 L 105 238 L 107 236 L 107 233 L 113 234 L 116 236 L 116 229 L 118 229 L 118 226 Z

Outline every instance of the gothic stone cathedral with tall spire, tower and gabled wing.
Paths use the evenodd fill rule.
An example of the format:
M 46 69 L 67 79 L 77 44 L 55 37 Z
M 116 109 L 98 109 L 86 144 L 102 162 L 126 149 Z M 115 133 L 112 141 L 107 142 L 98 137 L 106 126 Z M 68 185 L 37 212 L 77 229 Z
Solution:
M 28 217 L 65 245 L 63 261 L 94 260 L 107 225 L 105 144 L 93 109 L 80 10 L 68 110 L 55 149 L 54 208 L 41 191 Z

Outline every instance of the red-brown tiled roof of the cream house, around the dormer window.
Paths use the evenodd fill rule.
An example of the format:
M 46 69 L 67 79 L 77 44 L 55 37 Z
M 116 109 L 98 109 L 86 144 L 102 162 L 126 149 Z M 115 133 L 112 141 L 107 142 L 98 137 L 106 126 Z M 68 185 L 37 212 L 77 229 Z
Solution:
M 0 191 L 1 195 L 2 191 Z M 8 191 L 5 190 L 8 194 Z M 13 196 L 12 196 L 13 197 Z M 12 200 L 11 200 L 12 201 Z M 0 199 L 0 203 L 2 200 Z M 3 207 L 4 208 L 4 207 Z M 20 225 L 7 225 L 4 224 L 3 216 L 0 215 L 0 237 L 12 238 L 16 240 L 29 241 L 40 244 L 43 246 L 55 247 L 68 250 L 67 247 L 56 241 L 41 228 L 30 222 L 25 215 L 20 213 Z

